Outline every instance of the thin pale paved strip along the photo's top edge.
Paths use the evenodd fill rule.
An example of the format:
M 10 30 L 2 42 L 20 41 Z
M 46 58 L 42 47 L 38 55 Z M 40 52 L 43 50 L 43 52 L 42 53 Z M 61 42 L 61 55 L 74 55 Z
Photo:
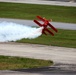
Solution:
M 31 4 L 44 4 L 44 5 L 59 5 L 59 6 L 73 6 L 76 7 L 76 2 L 60 2 L 50 0 L 0 0 L 0 2 L 15 2 L 15 3 L 31 3 Z

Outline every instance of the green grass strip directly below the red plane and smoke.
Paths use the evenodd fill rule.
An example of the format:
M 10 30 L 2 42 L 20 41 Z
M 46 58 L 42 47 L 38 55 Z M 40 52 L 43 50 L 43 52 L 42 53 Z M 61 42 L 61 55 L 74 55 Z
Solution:
M 42 35 L 36 39 L 22 39 L 17 42 L 76 48 L 76 30 L 59 29 L 55 36 Z

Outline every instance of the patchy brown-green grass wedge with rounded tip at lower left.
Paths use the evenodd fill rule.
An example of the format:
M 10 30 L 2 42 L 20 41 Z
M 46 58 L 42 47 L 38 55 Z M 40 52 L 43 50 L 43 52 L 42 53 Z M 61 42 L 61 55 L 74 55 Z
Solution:
M 50 60 L 39 60 L 0 55 L 0 70 L 38 68 L 51 65 L 53 65 L 53 62 Z

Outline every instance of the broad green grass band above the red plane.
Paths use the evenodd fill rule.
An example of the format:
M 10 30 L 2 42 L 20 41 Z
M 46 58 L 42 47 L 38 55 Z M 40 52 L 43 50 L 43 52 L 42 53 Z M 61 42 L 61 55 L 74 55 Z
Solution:
M 33 20 L 37 15 L 56 22 L 76 23 L 76 7 L 0 2 L 0 17 Z

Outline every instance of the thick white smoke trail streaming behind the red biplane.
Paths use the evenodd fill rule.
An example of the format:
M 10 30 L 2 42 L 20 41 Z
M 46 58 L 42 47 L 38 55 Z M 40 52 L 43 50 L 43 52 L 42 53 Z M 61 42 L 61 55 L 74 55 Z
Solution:
M 35 28 L 13 22 L 0 22 L 0 42 L 16 41 L 22 38 L 34 39 L 42 34 L 43 27 Z

